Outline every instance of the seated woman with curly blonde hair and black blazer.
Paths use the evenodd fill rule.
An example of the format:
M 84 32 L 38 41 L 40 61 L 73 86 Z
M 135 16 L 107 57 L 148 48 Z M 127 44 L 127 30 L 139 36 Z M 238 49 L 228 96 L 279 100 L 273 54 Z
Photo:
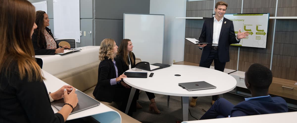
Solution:
M 124 74 L 118 74 L 118 65 L 114 58 L 118 51 L 118 46 L 113 39 L 104 39 L 99 50 L 98 82 L 93 95 L 96 99 L 105 102 L 122 102 L 120 110 L 125 112 L 129 99 L 131 87 L 122 78 L 127 78 Z M 132 116 L 132 111 L 136 111 L 136 100 L 133 99 L 128 115 Z

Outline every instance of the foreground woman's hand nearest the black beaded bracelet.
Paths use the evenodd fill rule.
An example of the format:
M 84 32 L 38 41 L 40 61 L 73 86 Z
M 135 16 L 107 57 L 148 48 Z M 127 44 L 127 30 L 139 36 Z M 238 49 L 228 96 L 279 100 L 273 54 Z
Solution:
M 68 103 L 75 108 L 78 103 L 77 94 L 75 94 L 75 88 L 68 94 L 67 89 L 64 89 L 64 103 Z

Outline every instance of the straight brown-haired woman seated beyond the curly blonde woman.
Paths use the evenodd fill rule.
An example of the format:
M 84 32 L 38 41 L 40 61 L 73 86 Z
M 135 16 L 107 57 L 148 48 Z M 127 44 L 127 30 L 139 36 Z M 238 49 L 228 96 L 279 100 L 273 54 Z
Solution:
M 123 39 L 119 48 L 119 52 L 117 53 L 117 56 L 115 58 L 116 63 L 118 64 L 119 74 L 123 74 L 125 71 L 129 69 L 135 68 L 135 55 L 134 53 L 132 53 L 132 50 L 133 45 L 131 40 Z M 151 101 L 151 103 L 149 104 L 149 110 L 154 110 L 156 114 L 160 114 L 160 111 L 158 110 L 155 102 L 154 93 L 146 92 L 146 95 L 149 97 L 149 100 Z M 137 108 L 142 108 L 142 106 L 140 106 L 138 102 L 136 102 L 136 104 Z

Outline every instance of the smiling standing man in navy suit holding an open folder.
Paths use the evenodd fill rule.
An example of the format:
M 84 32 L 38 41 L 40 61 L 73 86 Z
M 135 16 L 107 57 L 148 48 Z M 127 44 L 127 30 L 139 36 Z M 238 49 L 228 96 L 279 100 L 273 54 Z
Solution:
M 240 29 L 235 35 L 233 22 L 224 18 L 227 7 L 227 3 L 217 2 L 215 16 L 204 21 L 199 41 L 218 45 L 198 45 L 202 49 L 200 67 L 209 68 L 214 61 L 214 69 L 224 72 L 226 62 L 230 61 L 229 45 L 239 43 L 240 39 L 249 35 L 248 32 L 240 32 Z M 217 99 L 218 95 L 212 96 L 212 104 Z M 196 101 L 197 97 L 193 97 L 190 106 L 195 107 Z

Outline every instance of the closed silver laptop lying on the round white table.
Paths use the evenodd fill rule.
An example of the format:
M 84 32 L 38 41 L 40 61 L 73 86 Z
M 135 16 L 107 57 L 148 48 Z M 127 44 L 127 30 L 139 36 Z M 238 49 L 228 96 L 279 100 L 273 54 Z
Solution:
M 212 84 L 207 83 L 205 81 L 178 83 L 178 85 L 181 86 L 182 88 L 188 90 L 188 91 L 217 88 L 216 86 L 213 86 Z

